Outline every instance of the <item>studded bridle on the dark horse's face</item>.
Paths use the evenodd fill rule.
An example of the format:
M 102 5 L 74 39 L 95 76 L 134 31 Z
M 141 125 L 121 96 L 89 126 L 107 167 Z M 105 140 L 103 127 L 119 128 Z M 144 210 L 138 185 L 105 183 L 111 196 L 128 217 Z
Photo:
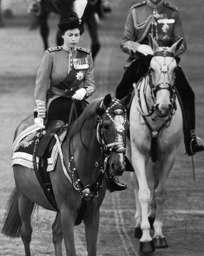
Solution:
M 103 130 L 103 119 L 102 119 L 102 115 L 98 115 L 97 117 L 97 126 L 96 127 L 96 138 L 99 141 L 101 147 L 102 147 L 102 151 L 104 151 L 106 154 L 110 153 L 110 152 L 117 152 L 117 153 L 123 153 L 125 154 L 125 150 L 126 150 L 126 144 L 125 144 L 125 123 L 127 121 L 127 115 L 126 115 L 126 109 L 125 109 L 125 120 L 124 123 L 122 124 L 121 122 L 119 123 L 119 125 L 116 123 L 116 121 L 112 118 L 112 115 L 110 115 L 109 111 L 110 109 L 112 109 L 114 106 L 116 106 L 118 104 L 118 101 L 112 100 L 114 103 L 112 104 L 111 107 L 107 108 L 105 110 L 105 113 L 107 114 L 107 116 L 110 118 L 110 120 L 115 124 L 115 126 L 117 127 L 117 135 L 116 135 L 116 139 L 114 142 L 107 144 L 106 140 L 105 140 L 105 135 L 104 135 L 104 130 Z M 102 106 L 102 103 L 101 103 Z M 122 109 L 116 109 L 114 110 L 114 113 L 116 115 L 121 115 L 123 114 L 123 110 Z M 118 141 L 118 138 L 121 138 L 121 141 Z

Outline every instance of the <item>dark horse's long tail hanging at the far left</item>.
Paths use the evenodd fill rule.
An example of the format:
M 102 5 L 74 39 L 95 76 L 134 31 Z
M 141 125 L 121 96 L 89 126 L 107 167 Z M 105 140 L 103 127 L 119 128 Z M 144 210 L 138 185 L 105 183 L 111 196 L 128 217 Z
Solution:
M 32 212 L 34 203 L 32 204 Z M 2 234 L 9 237 L 20 237 L 22 221 L 19 214 L 19 200 L 16 187 L 8 201 Z

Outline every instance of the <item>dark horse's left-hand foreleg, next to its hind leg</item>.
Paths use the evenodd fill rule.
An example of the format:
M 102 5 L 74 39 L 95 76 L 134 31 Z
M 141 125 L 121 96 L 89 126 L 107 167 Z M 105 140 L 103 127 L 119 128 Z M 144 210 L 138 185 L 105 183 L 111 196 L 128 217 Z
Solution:
M 62 223 L 62 232 L 67 256 L 76 256 L 74 243 L 74 226 L 76 215 L 76 212 L 73 212 L 69 208 L 60 209 L 60 219 Z

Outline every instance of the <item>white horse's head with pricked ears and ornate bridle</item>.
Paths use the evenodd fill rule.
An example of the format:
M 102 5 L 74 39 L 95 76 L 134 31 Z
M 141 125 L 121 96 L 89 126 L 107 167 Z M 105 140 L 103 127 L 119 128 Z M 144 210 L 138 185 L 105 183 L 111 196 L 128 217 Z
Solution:
M 175 108 L 174 83 L 177 62 L 174 57 L 182 45 L 183 38 L 171 47 L 159 47 L 151 35 L 149 40 L 154 51 L 149 70 L 154 111 L 158 117 L 167 117 Z

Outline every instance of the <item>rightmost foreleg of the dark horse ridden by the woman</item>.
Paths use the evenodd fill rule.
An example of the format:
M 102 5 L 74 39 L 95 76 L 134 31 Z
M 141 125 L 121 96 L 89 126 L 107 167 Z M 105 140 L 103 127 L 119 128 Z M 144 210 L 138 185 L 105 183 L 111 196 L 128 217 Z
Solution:
M 92 216 L 84 218 L 87 256 L 96 256 L 97 237 L 99 232 L 99 209 Z

